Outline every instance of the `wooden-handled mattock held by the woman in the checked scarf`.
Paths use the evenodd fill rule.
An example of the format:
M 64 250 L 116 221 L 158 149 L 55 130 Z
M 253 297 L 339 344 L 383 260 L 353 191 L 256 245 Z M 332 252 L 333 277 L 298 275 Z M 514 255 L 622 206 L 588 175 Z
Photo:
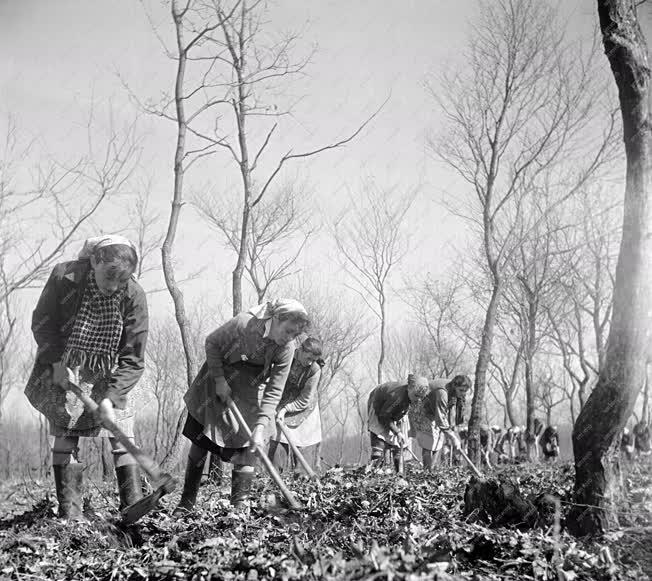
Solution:
M 78 375 L 70 368 L 68 368 L 68 390 L 72 391 L 81 400 L 89 412 L 97 413 L 99 406 L 90 396 L 81 390 Z M 159 465 L 138 448 L 112 420 L 104 418 L 101 420 L 101 423 L 125 447 L 127 452 L 134 457 L 145 474 L 150 477 L 152 487 L 155 488 L 154 492 L 150 495 L 122 509 L 122 522 L 124 524 L 132 524 L 151 510 L 157 508 L 160 498 L 164 494 L 172 492 L 177 485 L 177 481 L 169 474 L 162 472 Z

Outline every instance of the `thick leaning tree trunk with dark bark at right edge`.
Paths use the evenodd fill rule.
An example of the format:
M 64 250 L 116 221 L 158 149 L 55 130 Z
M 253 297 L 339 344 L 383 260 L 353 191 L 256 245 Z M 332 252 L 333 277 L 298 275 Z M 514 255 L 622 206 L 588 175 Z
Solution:
M 600 534 L 617 522 L 610 509 L 618 436 L 644 381 L 652 329 L 652 135 L 647 45 L 633 0 L 598 0 L 603 42 L 620 99 L 627 174 L 623 238 L 616 267 L 605 366 L 573 429 L 578 505 L 571 532 Z M 584 506 L 579 506 L 584 505 Z

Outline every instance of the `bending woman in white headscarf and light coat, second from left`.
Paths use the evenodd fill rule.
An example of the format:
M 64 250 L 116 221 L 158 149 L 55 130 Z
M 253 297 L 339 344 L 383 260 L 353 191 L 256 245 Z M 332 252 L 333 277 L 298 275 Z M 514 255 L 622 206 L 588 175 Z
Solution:
M 308 326 L 306 310 L 291 299 L 267 302 L 233 317 L 206 338 L 206 362 L 184 400 L 183 430 L 191 442 L 181 501 L 175 513 L 195 506 L 208 452 L 231 462 L 231 503 L 242 507 L 292 364 L 294 339 Z M 252 431 L 251 440 L 226 406 L 231 397 Z

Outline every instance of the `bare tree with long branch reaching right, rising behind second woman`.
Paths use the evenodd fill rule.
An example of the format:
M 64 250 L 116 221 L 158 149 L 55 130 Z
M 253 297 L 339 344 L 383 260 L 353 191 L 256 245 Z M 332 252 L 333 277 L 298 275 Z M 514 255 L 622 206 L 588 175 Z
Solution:
M 282 117 L 291 107 L 279 108 L 279 95 L 287 84 L 304 73 L 312 54 L 296 59 L 298 35 L 275 35 L 266 28 L 267 5 L 260 0 L 189 0 L 181 9 L 172 2 L 177 30 L 179 62 L 175 98 L 164 96 L 152 113 L 183 126 L 181 149 L 190 134 L 195 145 L 179 151 L 177 165 L 188 155 L 193 160 L 223 150 L 233 161 L 241 182 L 238 259 L 233 270 L 233 313 L 242 310 L 242 277 L 247 264 L 252 210 L 261 202 L 286 164 L 342 147 L 355 139 L 376 113 L 346 137 L 304 151 L 289 148 L 272 161 L 267 158 Z M 189 36 L 190 40 L 185 40 Z M 169 51 L 168 51 L 169 52 Z M 186 67 L 193 66 L 194 86 L 183 88 Z M 188 103 L 196 103 L 186 115 Z M 176 115 L 171 112 L 176 106 Z M 261 135 L 256 139 L 256 135 Z M 262 168 L 268 170 L 264 172 Z M 182 179 L 182 177 L 181 177 Z

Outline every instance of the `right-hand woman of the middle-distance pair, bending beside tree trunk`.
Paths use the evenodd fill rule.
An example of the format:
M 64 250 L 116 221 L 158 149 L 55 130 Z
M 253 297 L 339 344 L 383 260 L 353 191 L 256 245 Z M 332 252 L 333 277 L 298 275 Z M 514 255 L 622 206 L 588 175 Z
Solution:
M 452 380 L 408 376 L 410 397 L 410 426 L 412 434 L 421 447 L 421 459 L 425 470 L 433 467 L 433 452 L 439 452 L 448 440 L 451 448 L 458 450 L 460 440 L 453 427 L 464 418 L 464 400 L 471 381 L 465 375 Z

